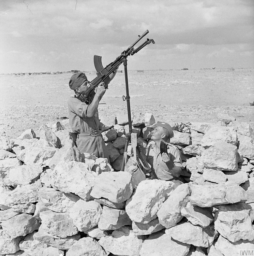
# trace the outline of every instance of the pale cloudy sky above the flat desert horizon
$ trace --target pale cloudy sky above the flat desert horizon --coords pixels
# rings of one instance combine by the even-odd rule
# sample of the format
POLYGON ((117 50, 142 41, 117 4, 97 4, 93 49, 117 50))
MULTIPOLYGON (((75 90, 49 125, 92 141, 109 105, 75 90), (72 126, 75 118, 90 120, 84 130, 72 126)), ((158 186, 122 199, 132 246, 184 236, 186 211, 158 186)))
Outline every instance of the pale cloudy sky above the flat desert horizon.
POLYGON ((0 73, 95 71, 146 30, 128 70, 254 67, 254 0, 0 0, 0 73))

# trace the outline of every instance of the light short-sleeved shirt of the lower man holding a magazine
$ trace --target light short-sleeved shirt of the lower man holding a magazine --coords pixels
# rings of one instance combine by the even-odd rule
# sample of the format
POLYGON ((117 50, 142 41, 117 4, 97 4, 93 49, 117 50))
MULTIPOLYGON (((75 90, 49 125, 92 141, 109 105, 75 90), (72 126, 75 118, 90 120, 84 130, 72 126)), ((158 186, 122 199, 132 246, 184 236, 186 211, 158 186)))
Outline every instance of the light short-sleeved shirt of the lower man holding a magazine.
MULTIPOLYGON (((178 148, 170 143, 167 143, 167 145, 167 152, 171 162, 173 162, 175 166, 182 168, 182 161, 178 148)), ((155 171, 156 175, 158 176, 158 179, 168 181, 176 178, 171 174, 166 163, 163 162, 160 151, 156 151, 154 141, 149 142, 147 146, 146 159, 147 162, 150 163, 151 168, 155 171)))

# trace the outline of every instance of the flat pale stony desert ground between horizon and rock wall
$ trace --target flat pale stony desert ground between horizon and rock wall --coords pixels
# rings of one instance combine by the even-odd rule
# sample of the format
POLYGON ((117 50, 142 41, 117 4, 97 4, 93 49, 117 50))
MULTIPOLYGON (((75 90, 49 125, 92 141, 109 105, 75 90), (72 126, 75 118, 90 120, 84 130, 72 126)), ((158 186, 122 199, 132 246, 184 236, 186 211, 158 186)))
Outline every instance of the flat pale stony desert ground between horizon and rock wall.
MULTIPOLYGON (((91 81, 95 72, 86 72, 91 81)), ((26 129, 68 117, 71 72, 0 75, 0 132, 16 138, 26 129)), ((156 121, 217 122, 218 113, 254 125, 254 69, 128 71, 131 111, 156 121)), ((124 72, 99 105, 100 117, 127 112, 124 72)))

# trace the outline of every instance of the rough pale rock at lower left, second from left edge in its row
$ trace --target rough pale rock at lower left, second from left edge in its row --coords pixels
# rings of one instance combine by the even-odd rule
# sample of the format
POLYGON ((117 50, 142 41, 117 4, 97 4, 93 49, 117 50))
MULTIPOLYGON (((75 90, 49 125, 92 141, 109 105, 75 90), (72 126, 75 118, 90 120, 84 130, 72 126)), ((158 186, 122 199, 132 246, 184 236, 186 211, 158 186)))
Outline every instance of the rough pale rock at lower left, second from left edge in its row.
POLYGON ((43 211, 40 213, 40 218, 43 229, 53 236, 65 238, 78 233, 77 227, 67 212, 43 211))

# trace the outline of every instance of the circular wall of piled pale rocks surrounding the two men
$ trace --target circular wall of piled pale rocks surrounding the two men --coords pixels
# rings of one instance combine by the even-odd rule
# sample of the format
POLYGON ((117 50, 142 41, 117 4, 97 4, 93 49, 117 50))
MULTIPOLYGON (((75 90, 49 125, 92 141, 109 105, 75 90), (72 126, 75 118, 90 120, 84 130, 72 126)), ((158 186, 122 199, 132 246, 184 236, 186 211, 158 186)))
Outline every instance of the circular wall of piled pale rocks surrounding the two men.
MULTIPOLYGON (((155 119, 132 118, 145 152, 155 119)), ((184 183, 175 188, 149 175, 135 186, 119 171, 127 123, 117 116, 100 124, 110 163, 80 154, 66 120, 0 136, 1 256, 253 255, 251 125, 220 114, 218 123, 175 131, 184 183)))

